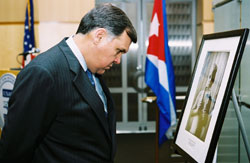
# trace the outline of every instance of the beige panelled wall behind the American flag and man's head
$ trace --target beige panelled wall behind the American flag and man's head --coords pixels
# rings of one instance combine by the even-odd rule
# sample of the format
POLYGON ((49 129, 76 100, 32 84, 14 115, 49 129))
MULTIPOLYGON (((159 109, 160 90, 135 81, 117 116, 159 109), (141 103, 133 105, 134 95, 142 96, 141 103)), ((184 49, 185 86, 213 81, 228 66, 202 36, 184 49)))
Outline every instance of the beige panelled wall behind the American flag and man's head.
MULTIPOLYGON (((0 0, 0 69, 20 67, 26 0, 0 0)), ((76 32, 95 0, 33 0, 36 46, 47 50, 76 32)))

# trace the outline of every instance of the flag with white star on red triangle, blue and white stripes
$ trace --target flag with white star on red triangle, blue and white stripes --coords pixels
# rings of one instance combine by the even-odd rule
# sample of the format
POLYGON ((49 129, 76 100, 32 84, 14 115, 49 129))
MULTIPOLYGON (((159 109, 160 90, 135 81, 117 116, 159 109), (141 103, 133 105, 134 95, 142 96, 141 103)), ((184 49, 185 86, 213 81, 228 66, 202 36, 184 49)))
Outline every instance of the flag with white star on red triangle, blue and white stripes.
POLYGON ((168 47, 165 0, 155 0, 149 31, 145 82, 157 96, 159 145, 172 137, 176 125, 175 79, 168 47))

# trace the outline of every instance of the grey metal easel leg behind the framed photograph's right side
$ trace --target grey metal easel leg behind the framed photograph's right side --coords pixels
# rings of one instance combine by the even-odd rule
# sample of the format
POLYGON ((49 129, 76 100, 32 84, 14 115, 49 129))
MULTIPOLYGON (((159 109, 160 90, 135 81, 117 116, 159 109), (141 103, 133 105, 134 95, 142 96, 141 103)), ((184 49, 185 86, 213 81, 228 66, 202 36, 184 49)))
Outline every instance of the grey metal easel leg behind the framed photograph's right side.
POLYGON ((240 125, 240 131, 241 131, 241 134, 242 134, 242 138, 243 138, 243 141, 244 141, 244 144, 245 144, 245 148, 246 148, 246 151, 247 151, 248 160, 250 162, 250 147, 249 147, 249 142, 248 142, 248 139, 247 139, 247 134, 246 134, 245 126, 244 126, 244 123, 243 123, 243 120, 242 120, 242 116, 241 116, 241 113, 240 113, 240 108, 239 108, 239 105, 238 105, 238 101, 237 101, 234 89, 232 91, 232 99, 233 99, 235 113, 236 113, 236 116, 237 116, 237 119, 238 119, 238 122, 239 122, 239 125, 240 125))

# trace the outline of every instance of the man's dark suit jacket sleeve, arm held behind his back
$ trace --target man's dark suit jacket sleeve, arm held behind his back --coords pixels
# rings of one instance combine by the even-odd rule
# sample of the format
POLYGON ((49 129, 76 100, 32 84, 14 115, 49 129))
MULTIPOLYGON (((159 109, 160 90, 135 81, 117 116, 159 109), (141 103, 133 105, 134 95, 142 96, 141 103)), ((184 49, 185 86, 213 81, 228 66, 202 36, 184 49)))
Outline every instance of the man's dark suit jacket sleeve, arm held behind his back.
POLYGON ((0 162, 31 162, 34 149, 52 120, 53 76, 40 66, 23 69, 9 100, 0 139, 0 162))

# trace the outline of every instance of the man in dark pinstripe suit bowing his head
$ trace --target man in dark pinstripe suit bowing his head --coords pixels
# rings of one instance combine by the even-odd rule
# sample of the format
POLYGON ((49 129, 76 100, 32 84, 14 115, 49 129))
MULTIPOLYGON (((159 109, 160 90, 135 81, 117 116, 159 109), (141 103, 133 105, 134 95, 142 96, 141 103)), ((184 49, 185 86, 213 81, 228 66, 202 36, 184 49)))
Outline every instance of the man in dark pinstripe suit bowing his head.
POLYGON ((0 162, 113 162, 115 109, 101 75, 136 41, 126 14, 101 5, 28 64, 9 100, 0 162))

